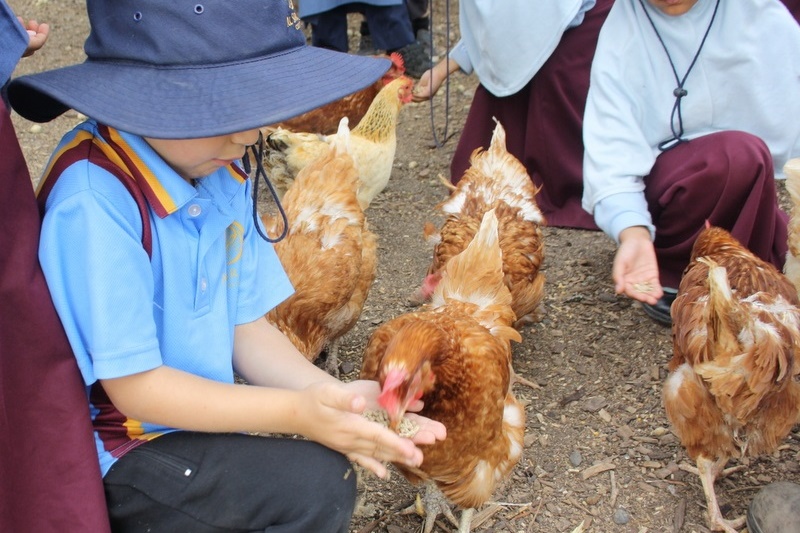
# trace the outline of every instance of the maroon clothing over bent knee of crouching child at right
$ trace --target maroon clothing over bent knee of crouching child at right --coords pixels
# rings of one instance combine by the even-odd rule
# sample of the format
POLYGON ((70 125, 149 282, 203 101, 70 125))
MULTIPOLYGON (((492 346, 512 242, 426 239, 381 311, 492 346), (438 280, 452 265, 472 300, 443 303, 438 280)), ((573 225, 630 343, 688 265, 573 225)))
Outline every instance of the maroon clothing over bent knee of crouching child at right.
POLYGON ((645 178, 661 284, 676 288, 706 220, 783 269, 788 215, 778 206, 772 156, 748 133, 726 131, 662 153, 645 178))

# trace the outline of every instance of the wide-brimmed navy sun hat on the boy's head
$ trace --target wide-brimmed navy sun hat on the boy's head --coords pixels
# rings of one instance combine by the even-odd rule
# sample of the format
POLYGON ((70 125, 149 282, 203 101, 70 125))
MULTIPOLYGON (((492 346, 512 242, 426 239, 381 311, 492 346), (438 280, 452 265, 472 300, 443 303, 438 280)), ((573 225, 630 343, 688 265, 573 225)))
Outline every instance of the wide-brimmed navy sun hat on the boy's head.
POLYGON ((11 106, 34 122, 72 108, 144 137, 213 137, 358 91, 390 61, 306 44, 292 0, 88 0, 86 61, 21 76, 11 106))

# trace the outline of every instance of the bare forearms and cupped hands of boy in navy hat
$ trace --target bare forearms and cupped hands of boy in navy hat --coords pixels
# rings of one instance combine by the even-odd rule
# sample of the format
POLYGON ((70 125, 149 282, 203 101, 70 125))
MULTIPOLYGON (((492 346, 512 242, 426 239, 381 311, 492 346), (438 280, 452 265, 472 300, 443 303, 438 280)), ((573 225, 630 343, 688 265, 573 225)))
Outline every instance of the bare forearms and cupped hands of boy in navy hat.
MULTIPOLYGON (((193 431, 299 434, 337 450, 379 477, 386 462, 418 466, 415 442, 361 416, 378 385, 345 384, 303 357, 263 317, 236 327, 234 367, 251 385, 220 383, 170 368, 102 380, 122 413, 193 431)), ((444 438, 427 421, 420 443, 444 438)))

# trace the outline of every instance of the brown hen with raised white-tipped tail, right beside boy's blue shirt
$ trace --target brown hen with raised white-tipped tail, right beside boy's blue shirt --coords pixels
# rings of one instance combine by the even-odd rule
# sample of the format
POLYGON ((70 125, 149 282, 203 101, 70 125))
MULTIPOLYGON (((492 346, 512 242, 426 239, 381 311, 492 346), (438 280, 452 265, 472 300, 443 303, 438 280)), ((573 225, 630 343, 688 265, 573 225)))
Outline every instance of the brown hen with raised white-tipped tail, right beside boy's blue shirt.
MULTIPOLYGON (((297 175, 283 198, 289 231, 275 251, 295 293, 267 314, 310 361, 327 346, 327 370, 334 375, 337 341, 358 320, 376 266, 376 237, 356 199, 348 137, 342 119, 327 153, 297 175)), ((262 220, 270 233, 280 233, 280 217, 262 220)))

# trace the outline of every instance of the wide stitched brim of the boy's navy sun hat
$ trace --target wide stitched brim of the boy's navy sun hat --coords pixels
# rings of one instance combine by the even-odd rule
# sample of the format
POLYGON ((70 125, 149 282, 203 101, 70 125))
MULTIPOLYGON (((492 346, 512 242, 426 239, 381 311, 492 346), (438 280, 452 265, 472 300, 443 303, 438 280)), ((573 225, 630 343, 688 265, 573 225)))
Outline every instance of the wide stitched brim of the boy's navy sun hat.
POLYGON ((312 46, 221 65, 154 67, 87 60, 22 76, 11 106, 34 122, 72 108, 144 137, 213 137, 260 128, 354 93, 381 77, 388 59, 312 46))

